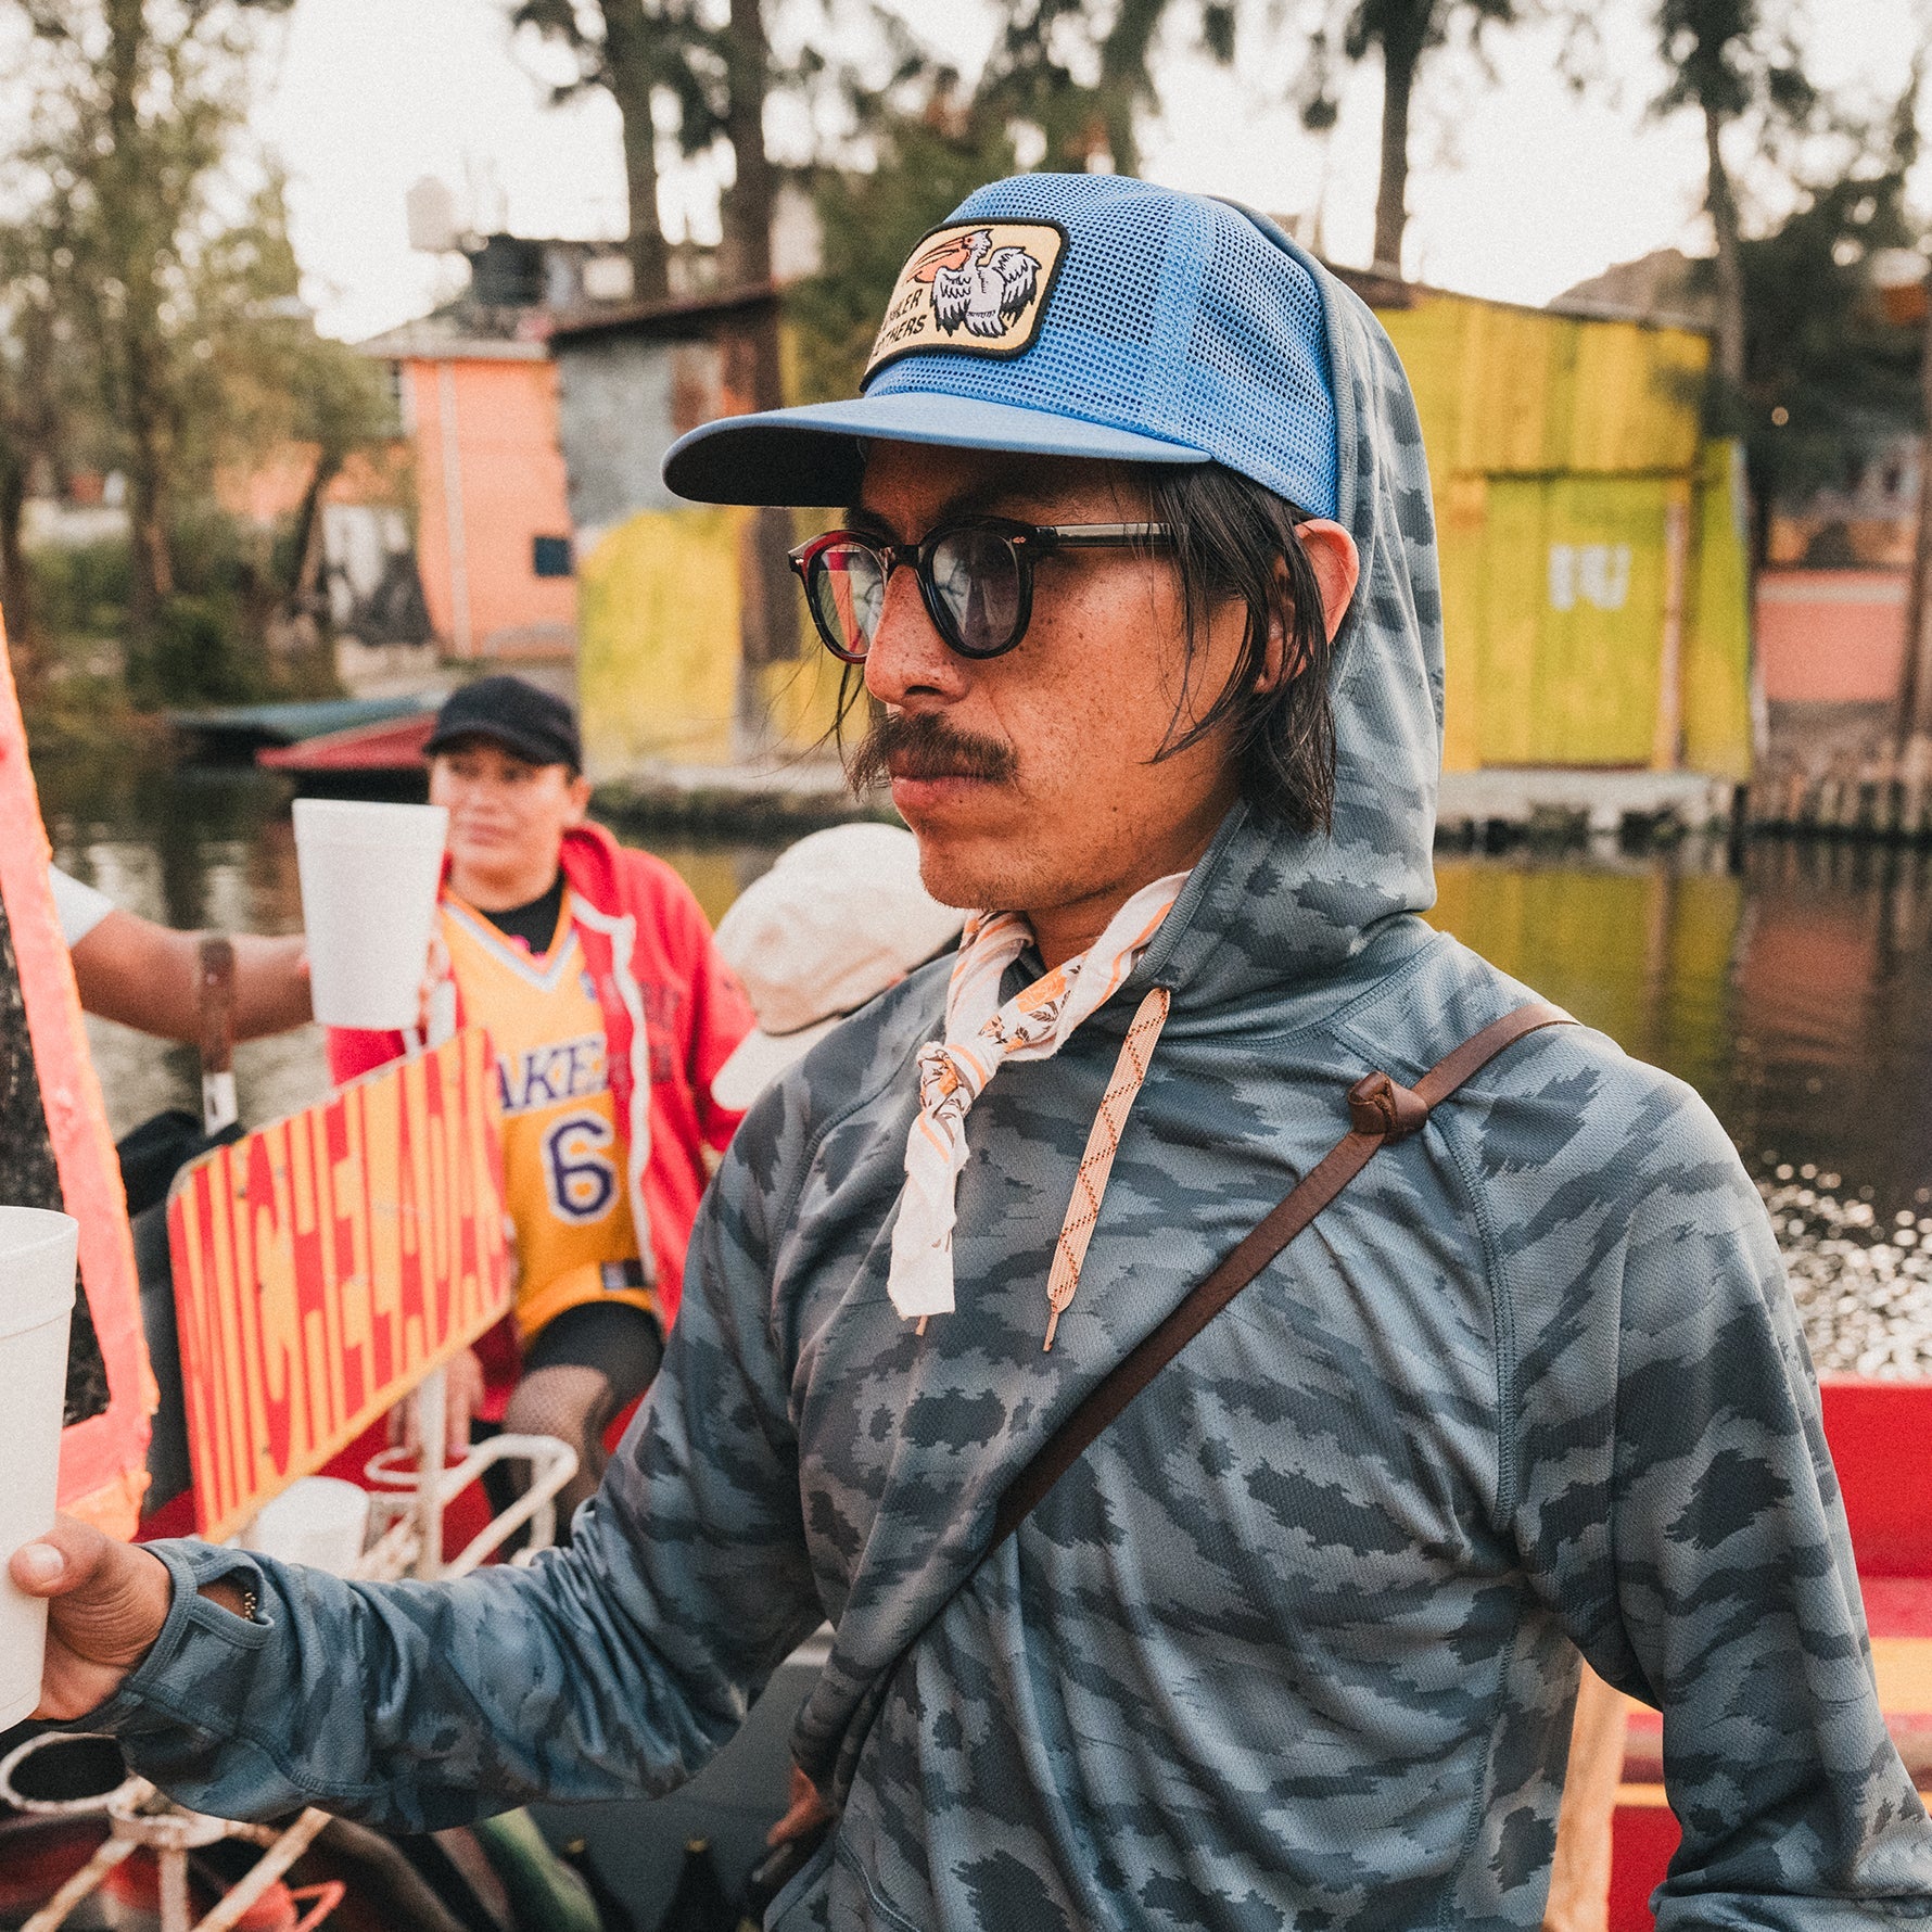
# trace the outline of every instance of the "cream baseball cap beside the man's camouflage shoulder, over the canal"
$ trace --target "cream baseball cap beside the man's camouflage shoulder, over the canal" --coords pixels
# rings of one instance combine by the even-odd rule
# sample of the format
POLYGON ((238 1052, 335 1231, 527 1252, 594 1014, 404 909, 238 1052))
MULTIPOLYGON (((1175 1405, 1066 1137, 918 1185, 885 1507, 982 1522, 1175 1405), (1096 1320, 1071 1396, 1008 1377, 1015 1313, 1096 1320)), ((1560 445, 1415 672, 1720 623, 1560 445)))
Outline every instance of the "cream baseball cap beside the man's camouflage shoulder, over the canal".
POLYGON ((835 825, 779 854, 719 920, 717 949, 744 981, 757 1028, 719 1068, 711 1097, 750 1107, 848 1012, 956 939, 966 914, 920 885, 920 844, 896 825, 835 825))

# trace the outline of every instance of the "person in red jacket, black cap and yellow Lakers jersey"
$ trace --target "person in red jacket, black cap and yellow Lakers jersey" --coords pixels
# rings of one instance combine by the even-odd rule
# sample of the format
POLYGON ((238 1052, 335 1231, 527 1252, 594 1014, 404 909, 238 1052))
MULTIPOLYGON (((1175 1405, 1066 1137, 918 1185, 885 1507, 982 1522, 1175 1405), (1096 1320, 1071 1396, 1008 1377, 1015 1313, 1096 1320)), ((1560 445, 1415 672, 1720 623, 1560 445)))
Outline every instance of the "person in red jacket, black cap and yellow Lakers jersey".
MULTIPOLYGON (((657 1374, 707 1155, 738 1124, 711 1078, 752 1009, 684 881, 587 823, 562 699, 481 678, 444 703, 425 750, 431 802, 450 811, 446 976, 458 1022, 491 1034, 502 1099, 522 1345, 502 1424, 578 1451, 568 1517, 603 1472, 605 1428, 657 1374)), ((330 1072, 408 1047, 332 1030, 330 1072)), ((452 1453, 481 1399, 481 1364, 460 1358, 452 1453)))

